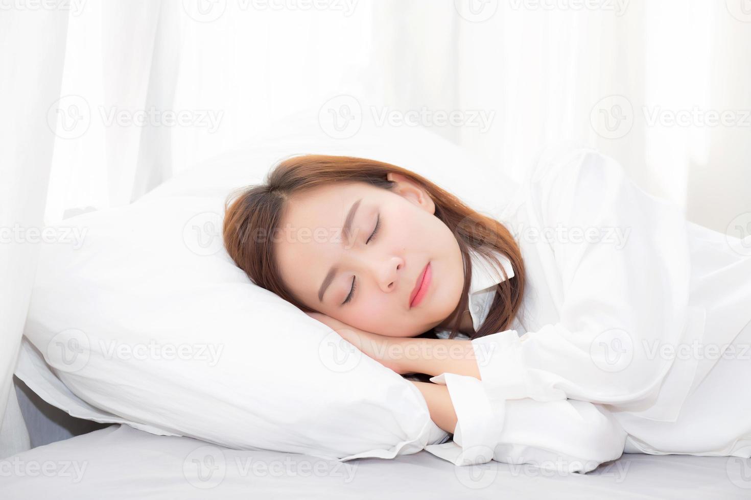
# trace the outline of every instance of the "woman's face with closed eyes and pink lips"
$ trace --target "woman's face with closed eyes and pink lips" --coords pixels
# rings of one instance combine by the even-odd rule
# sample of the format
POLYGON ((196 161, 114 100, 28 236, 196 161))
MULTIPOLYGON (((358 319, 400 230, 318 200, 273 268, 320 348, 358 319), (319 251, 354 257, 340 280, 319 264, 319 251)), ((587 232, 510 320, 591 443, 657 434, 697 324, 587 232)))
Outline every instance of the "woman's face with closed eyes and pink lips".
POLYGON ((394 190, 354 182, 290 199, 277 263, 312 310, 375 334, 414 337, 459 304, 462 256, 427 192, 403 175, 387 177, 394 190), (426 268, 429 279, 415 296, 426 268))

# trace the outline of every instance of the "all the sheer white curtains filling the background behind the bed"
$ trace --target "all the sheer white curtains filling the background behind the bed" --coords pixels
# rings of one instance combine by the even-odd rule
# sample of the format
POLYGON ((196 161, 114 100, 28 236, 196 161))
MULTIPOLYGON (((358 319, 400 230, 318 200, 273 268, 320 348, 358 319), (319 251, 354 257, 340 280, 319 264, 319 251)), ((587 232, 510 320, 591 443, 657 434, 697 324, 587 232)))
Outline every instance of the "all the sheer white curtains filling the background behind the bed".
MULTIPOLYGON (((748 1, 0 2, 0 230, 127 204, 345 95, 517 179, 544 145, 600 148, 724 232, 751 213, 748 1)), ((0 244, 0 410, 38 250, 19 238, 0 244)))

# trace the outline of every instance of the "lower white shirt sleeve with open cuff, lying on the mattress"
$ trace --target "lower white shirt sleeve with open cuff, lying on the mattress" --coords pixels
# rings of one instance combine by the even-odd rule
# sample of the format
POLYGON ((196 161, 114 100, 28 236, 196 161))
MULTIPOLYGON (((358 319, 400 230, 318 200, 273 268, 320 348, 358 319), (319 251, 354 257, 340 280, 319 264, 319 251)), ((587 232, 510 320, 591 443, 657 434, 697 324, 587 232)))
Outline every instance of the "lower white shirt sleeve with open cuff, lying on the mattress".
POLYGON ((428 445, 456 466, 496 460, 556 472, 589 472, 623 454, 626 432, 606 411, 584 401, 529 398, 494 405, 483 382, 443 373, 431 381, 448 387, 457 412, 454 441, 428 445))

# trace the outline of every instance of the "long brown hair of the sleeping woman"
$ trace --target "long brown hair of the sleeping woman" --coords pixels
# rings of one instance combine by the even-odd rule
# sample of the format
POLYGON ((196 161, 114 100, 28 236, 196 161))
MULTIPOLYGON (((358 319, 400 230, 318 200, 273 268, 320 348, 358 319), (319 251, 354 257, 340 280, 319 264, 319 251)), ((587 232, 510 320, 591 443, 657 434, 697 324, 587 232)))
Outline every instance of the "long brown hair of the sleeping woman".
MULTIPOLYGON (((493 251, 498 251, 511 261, 514 277, 508 278, 502 269, 505 280, 498 284, 490 312, 481 327, 470 338, 484 337, 498 331, 508 330, 514 315, 520 307, 524 292, 524 263, 511 232, 494 220, 472 210, 457 196, 433 184, 421 175, 382 161, 348 156, 324 154, 304 154, 290 157, 276 165, 267 174, 264 184, 243 188, 228 197, 225 209, 223 235, 225 247, 240 269, 250 280, 264 289, 306 312, 306 307, 282 283, 275 260, 272 238, 279 230, 279 224, 286 203, 292 196, 312 187, 333 182, 365 182, 383 189, 391 189, 393 182, 386 178, 388 172, 398 172, 423 187, 436 205, 435 215, 448 226, 457 238, 464 261, 464 286, 462 298, 449 320, 453 339, 458 333, 460 312, 467 310, 469 283, 472 279, 472 265, 468 248, 493 259, 499 265, 493 251), (253 237, 255 235, 255 237, 253 237)), ((435 335, 429 331, 423 336, 435 335)))

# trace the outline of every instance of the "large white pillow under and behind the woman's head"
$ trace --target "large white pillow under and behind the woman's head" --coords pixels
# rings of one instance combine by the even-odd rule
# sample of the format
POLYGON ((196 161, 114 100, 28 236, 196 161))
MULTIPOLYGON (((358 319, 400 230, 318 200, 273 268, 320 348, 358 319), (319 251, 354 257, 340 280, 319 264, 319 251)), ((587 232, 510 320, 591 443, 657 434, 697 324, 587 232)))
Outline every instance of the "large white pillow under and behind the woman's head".
POLYGON ((230 448, 348 460, 445 441, 411 382, 253 285, 225 252, 227 194, 316 152, 396 163, 491 213, 515 187, 426 130, 366 121, 342 141, 315 115, 289 118, 132 205, 57 224, 83 244, 41 249, 20 379, 79 418, 230 448))

